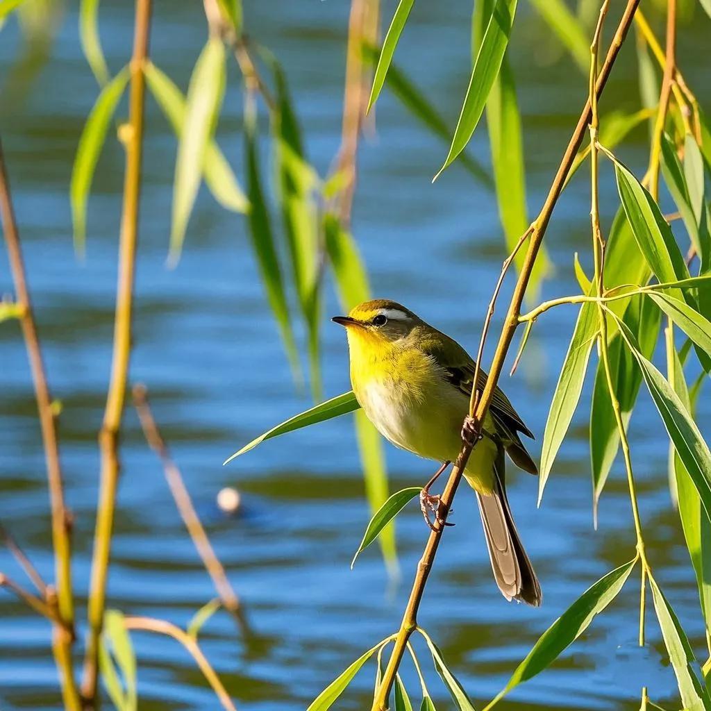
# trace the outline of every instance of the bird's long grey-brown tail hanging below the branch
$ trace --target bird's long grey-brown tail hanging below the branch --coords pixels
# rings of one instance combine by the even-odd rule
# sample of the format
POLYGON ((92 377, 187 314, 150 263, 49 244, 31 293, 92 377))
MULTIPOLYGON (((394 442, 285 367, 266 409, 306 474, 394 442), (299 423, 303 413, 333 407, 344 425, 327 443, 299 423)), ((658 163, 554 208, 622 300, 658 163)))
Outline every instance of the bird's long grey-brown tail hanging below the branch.
POLYGON ((513 523, 506 498, 504 466, 503 447, 499 447, 493 493, 476 493, 491 567, 503 597, 538 607, 542 600, 540 584, 513 523))

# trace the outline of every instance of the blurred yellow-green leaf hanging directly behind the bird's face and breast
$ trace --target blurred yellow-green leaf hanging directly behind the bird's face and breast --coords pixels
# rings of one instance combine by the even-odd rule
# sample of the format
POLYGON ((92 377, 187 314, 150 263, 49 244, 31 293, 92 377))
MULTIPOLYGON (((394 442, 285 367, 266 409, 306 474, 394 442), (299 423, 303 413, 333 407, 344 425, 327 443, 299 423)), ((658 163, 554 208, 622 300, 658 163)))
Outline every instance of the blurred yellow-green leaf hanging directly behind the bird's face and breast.
MULTIPOLYGON (((368 274, 365 272, 355 240, 350 232, 343 229, 335 215, 324 216, 324 233, 326 253, 336 279, 338 298, 343 310, 350 311, 356 304, 370 299, 368 274)), ((365 493, 368 495, 370 510, 375 512, 387 498, 383 440, 364 415, 355 417, 355 434, 358 438, 360 462, 363 465, 365 493)), ((385 563, 391 574, 394 574, 397 570, 397 556, 395 555, 395 528, 392 523, 383 530, 379 542, 385 563)))

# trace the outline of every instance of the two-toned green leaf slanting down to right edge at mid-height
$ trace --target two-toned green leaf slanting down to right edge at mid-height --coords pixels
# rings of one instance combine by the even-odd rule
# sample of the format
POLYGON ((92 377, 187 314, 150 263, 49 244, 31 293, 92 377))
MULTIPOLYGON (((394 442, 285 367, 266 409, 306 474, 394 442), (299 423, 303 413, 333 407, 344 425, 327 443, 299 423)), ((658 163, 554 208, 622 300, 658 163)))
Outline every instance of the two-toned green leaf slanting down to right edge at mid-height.
POLYGON ((711 515, 711 452, 699 428, 664 376, 639 350, 634 335, 618 320, 620 333, 642 370, 642 376, 701 502, 711 515))

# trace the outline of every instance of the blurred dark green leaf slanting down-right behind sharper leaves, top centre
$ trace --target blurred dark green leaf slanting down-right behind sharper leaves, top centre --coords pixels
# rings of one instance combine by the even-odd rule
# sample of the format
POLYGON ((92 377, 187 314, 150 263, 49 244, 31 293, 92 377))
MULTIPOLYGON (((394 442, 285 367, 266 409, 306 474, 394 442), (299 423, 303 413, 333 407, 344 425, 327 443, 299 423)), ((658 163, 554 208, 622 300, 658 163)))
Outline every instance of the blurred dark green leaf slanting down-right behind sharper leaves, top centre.
MULTIPOLYGON (((371 65, 375 65, 380 56, 377 48, 367 45, 363 48, 363 54, 371 65)), ((439 112, 437 112, 437 109, 427 100, 427 97, 422 94, 412 81, 407 78, 407 75, 397 68, 395 64, 390 65, 385 79, 385 85, 424 127, 449 145, 450 134, 449 128, 447 128, 447 122, 444 121, 439 112)), ((459 162, 469 171, 476 181, 490 190, 493 189, 491 176, 479 161, 476 161, 476 159, 467 153, 462 153, 461 156, 459 156, 459 162)))

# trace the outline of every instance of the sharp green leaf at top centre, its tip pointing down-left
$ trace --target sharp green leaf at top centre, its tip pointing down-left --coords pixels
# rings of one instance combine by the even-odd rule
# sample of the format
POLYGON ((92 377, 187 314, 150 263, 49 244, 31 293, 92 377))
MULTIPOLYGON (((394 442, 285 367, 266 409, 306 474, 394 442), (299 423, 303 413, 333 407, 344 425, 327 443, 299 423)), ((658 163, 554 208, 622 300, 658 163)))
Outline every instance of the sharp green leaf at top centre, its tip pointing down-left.
POLYGON ((459 121, 454 130, 454 138, 449 147, 449 154, 447 154, 442 168, 434 176, 434 180, 437 180, 442 171, 451 165, 456 156, 459 156, 474 134, 476 124, 479 123, 484 105, 486 105, 489 91, 501 67, 515 12, 516 0, 496 0, 491 18, 489 18, 486 31, 481 39, 479 53, 476 55, 469 87, 464 97, 464 105, 461 107, 459 121))

